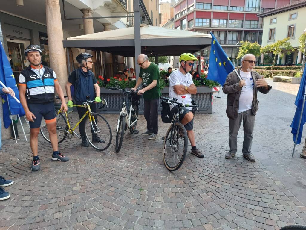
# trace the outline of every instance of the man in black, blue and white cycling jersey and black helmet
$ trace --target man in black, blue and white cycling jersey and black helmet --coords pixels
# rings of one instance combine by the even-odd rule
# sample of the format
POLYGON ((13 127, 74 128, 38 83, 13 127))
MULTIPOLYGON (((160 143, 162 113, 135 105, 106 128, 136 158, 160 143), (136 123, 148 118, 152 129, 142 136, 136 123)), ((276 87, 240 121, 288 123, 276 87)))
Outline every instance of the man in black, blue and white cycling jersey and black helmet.
POLYGON ((54 89, 61 98, 61 109, 63 111, 67 111, 67 105, 55 72, 51 68, 41 64, 42 52, 39 45, 28 45, 24 51, 24 55, 31 64, 28 68, 21 71, 19 75, 19 94, 25 116, 30 121, 30 146, 33 152, 31 170, 38 171, 40 169, 38 134, 42 118, 45 119, 53 148, 52 160, 69 160, 68 157, 65 157, 58 151, 54 89))

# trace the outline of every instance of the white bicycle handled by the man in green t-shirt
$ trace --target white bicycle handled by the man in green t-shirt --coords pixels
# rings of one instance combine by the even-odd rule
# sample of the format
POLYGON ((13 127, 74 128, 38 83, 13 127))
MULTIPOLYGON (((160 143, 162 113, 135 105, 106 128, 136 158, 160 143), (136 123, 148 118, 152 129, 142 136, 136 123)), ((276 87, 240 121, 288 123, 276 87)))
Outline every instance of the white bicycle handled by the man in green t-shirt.
POLYGON ((137 90, 136 91, 125 90, 125 89, 120 89, 118 87, 108 87, 108 89, 121 90, 124 94, 122 100, 122 108, 119 114, 118 124, 116 129, 115 150, 118 153, 122 146, 124 131, 129 129, 131 134, 138 133, 138 130, 136 130, 136 126, 138 120, 138 111, 139 111, 141 95, 137 94, 138 92, 137 90), (126 96, 129 97, 129 100, 131 102, 129 113, 126 108, 126 102, 125 102, 126 96))

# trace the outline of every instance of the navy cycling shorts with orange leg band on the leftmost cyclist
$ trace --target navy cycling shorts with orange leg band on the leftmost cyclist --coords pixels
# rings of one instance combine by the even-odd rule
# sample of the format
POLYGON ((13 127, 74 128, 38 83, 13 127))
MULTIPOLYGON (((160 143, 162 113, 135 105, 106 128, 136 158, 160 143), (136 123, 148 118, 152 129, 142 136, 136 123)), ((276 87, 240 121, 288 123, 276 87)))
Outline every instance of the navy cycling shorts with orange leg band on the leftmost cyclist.
POLYGON ((29 121, 30 128, 40 128, 42 118, 45 119, 46 124, 56 121, 54 102, 47 104, 28 104, 28 108, 31 113, 36 117, 34 122, 29 121))

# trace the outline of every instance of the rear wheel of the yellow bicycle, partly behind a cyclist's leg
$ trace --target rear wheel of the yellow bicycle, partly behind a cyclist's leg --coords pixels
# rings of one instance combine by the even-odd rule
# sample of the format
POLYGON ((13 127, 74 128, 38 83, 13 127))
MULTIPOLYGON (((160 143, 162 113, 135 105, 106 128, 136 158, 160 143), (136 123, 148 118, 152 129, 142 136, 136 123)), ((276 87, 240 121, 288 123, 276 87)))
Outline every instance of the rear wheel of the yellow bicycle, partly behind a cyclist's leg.
MULTIPOLYGON (((68 125, 65 117, 62 113, 56 114, 56 133, 58 135, 58 144, 62 143, 63 140, 65 140, 67 135, 67 133, 65 132, 66 130, 68 130, 68 125)), ((42 121, 40 125, 40 133, 46 141, 51 143, 47 125, 44 121, 42 121)))

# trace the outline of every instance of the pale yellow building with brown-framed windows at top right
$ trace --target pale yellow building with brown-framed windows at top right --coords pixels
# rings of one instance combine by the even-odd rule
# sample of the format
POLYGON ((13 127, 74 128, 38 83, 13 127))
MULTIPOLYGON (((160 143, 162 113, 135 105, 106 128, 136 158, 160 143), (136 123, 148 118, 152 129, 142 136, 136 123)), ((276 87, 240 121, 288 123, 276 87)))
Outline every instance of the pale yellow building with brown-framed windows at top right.
POLYGON ((285 54, 283 58, 278 58, 277 64, 301 63, 303 54, 297 48, 300 46, 299 37, 306 28, 305 15, 306 1, 294 2, 258 15, 263 18, 262 46, 289 37, 289 41, 295 49, 290 54, 285 54))

